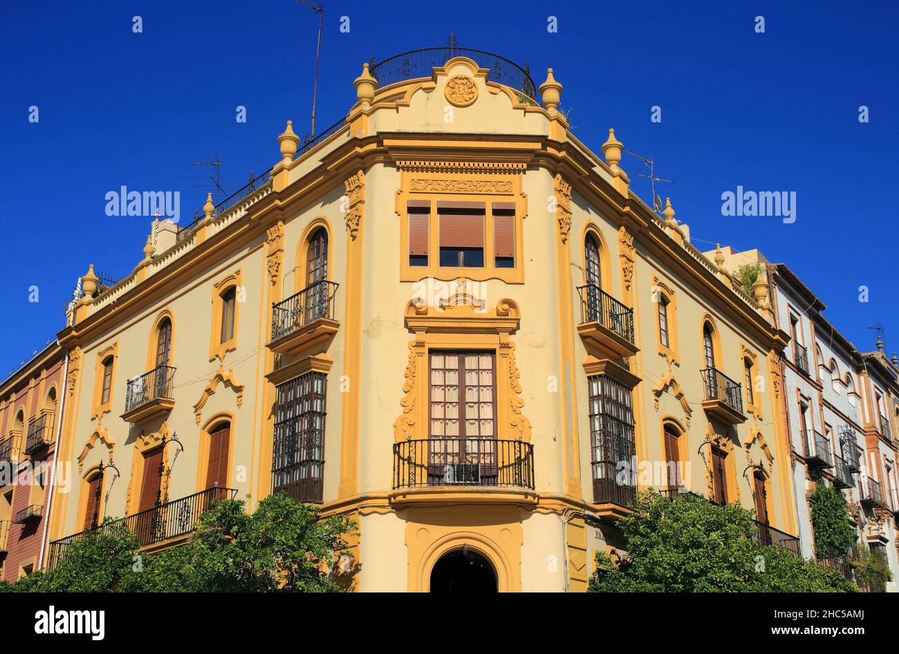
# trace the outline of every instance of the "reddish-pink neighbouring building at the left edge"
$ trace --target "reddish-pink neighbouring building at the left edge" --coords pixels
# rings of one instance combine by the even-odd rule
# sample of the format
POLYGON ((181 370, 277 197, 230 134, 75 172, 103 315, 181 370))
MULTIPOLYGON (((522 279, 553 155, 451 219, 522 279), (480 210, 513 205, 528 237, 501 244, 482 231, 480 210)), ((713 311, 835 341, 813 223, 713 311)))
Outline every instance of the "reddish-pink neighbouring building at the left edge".
MULTIPOLYGON (((65 401, 65 356, 52 343, 0 384, 0 579, 41 566, 51 480, 65 401)), ((65 484, 65 471, 62 479, 65 484)))

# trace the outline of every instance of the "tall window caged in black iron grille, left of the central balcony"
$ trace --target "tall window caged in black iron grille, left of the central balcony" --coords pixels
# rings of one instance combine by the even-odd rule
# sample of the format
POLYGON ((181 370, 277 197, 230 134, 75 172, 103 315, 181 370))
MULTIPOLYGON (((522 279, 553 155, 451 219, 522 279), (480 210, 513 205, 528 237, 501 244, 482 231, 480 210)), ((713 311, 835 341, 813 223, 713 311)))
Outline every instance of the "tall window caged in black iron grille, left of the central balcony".
POLYGON ((277 388, 271 492, 320 503, 325 469, 327 376, 307 373, 277 388))

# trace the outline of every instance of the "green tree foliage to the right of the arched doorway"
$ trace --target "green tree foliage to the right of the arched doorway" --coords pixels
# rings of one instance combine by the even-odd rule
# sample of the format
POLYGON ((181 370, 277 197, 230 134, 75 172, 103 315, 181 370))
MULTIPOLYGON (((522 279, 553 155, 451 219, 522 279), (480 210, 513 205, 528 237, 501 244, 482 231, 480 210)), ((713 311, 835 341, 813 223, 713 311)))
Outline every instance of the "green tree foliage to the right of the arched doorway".
POLYGON ((619 521, 628 558, 597 556, 593 592, 829 592, 856 588, 778 545, 761 545, 752 512, 697 495, 640 493, 619 521))

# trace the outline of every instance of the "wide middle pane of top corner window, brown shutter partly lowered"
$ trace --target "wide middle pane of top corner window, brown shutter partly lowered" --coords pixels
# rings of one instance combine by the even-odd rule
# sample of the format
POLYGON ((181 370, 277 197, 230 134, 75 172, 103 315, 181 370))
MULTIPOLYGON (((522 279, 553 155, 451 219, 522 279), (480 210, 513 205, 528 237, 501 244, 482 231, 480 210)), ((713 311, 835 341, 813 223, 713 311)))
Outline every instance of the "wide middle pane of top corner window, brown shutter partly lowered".
POLYGON ((437 202, 441 267, 484 268, 484 202, 437 202))

